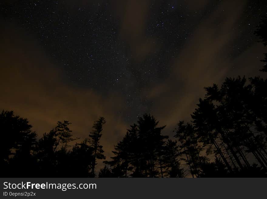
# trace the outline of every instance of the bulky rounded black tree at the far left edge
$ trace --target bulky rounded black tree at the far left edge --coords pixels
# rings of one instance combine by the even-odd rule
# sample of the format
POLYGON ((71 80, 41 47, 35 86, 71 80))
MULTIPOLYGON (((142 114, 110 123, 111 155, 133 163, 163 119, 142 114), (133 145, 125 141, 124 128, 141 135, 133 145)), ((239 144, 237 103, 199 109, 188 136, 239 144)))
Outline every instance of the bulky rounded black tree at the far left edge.
POLYGON ((36 144, 36 133, 31 130, 29 120, 15 116, 13 111, 2 111, 0 114, 1 139, 1 176, 12 177, 20 172, 24 176, 34 174, 32 150, 36 144), (16 168, 15 164, 20 167, 16 168))

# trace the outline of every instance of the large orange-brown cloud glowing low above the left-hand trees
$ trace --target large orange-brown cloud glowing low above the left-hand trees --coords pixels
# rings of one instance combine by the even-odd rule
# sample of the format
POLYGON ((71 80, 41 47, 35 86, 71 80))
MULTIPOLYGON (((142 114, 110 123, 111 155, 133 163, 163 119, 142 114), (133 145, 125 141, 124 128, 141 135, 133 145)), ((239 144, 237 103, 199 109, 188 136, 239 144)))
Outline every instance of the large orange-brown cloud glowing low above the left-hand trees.
POLYGON ((117 114, 122 108, 120 94, 102 96, 90 88, 68 85, 64 71, 22 30, 5 25, 0 42, 0 109, 28 118, 39 136, 55 127, 57 121, 68 120, 73 136, 81 139, 88 137, 93 121, 101 115, 107 121, 101 144, 109 159, 114 144, 128 128, 117 114))

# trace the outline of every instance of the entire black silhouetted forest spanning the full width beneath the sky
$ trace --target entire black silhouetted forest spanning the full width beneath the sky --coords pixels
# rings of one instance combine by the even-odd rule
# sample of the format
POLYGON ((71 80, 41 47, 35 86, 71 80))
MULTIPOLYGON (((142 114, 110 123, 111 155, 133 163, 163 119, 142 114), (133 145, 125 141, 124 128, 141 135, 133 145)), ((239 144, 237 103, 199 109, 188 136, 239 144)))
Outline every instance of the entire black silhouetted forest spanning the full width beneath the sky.
MULTIPOLYGON (((267 45, 267 20, 255 34, 267 45)), ((262 60, 267 72, 267 53, 262 60)), ((73 138, 69 121, 37 139, 27 118, 0 114, 1 177, 267 177, 267 79, 227 77, 205 87, 191 121, 174 137, 150 114, 138 117, 106 161, 100 116, 88 138, 73 138), (76 141, 76 144, 70 143, 76 141), (105 166, 96 171, 98 160, 105 166)))

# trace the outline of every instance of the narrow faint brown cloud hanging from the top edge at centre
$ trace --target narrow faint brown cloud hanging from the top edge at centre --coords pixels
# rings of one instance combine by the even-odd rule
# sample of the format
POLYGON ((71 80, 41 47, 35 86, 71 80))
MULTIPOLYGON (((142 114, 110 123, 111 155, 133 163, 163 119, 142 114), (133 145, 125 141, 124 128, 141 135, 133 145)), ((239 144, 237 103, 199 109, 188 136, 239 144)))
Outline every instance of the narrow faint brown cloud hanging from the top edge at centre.
POLYGON ((150 1, 113 1, 112 11, 119 21, 119 36, 130 47, 135 61, 142 61, 159 49, 156 39, 146 35, 150 1))

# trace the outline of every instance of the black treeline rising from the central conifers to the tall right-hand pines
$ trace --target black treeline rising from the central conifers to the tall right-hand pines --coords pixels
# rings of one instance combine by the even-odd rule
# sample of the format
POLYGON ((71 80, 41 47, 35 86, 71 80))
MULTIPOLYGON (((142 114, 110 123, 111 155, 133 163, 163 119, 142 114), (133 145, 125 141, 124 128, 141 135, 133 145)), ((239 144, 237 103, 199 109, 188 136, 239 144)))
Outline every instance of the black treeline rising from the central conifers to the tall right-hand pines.
POLYGON ((205 88, 191 114, 179 121, 176 140, 161 134, 153 116, 144 114, 115 146, 113 177, 263 177, 267 176, 267 80, 226 78, 205 88), (181 167, 186 164, 188 167, 181 167), (188 172, 189 171, 189 172, 188 172))

